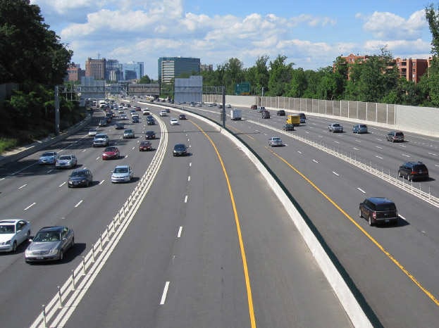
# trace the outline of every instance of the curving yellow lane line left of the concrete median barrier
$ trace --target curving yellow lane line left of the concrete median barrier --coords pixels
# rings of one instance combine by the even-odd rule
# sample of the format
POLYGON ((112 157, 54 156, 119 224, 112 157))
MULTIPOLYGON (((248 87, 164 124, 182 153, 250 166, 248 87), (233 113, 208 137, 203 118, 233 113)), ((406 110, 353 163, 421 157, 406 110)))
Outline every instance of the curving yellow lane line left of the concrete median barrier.
POLYGON ((232 207, 233 207, 233 213, 235 214, 235 222, 236 222, 236 229, 237 229, 237 236, 240 241, 240 248, 241 248, 241 257, 242 257, 242 266, 244 267, 244 276, 245 276, 245 286, 247 287, 247 301, 249 303, 249 315, 250 315, 250 323, 252 325, 252 328, 256 328, 256 322, 254 320, 254 309, 253 309, 253 298, 252 298, 252 288, 250 287, 250 278, 249 278, 249 270, 247 268, 247 258, 245 256, 245 250, 244 250, 244 243, 242 242, 242 234, 241 234, 241 227, 240 227, 240 220, 237 216, 237 210, 235 206, 235 198, 233 198, 233 191, 232 187, 230 186, 230 181, 228 179, 227 171, 225 170, 223 159, 221 158, 221 155, 218 152, 218 149, 216 149, 216 146, 214 144, 214 141, 204 132, 204 130, 197 125, 197 123, 193 122, 192 120, 189 120, 192 122, 193 125, 199 128, 201 132, 204 133, 204 135, 211 141, 212 146, 214 146, 214 149, 216 151, 216 155, 218 156, 221 166, 223 167, 223 172, 225 176, 225 180, 227 181, 228 185, 228 191, 230 194, 230 200, 232 201, 232 207))

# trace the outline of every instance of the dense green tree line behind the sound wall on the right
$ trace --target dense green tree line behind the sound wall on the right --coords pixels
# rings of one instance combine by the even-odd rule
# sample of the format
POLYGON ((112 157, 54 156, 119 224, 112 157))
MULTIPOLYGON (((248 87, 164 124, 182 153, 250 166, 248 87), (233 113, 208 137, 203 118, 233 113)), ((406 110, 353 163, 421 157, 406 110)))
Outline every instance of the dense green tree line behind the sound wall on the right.
POLYGON ((287 63, 287 57, 280 54, 273 61, 261 56, 250 68, 230 58, 214 71, 201 72, 203 85, 225 86, 226 94, 235 94, 235 84, 250 82, 252 94, 261 95, 264 89, 265 96, 439 107, 439 14, 433 4, 425 13, 433 36, 433 61, 418 84, 399 76, 392 53, 384 47, 361 63, 346 63, 338 57, 334 67, 319 70, 294 68, 295 64, 287 63))

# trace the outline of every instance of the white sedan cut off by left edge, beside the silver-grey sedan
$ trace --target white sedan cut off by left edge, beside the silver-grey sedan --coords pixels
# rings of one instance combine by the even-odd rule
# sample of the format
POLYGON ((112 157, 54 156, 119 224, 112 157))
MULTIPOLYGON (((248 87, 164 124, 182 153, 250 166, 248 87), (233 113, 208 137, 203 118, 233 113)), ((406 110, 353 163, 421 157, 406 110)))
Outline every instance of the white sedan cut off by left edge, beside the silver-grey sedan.
POLYGON ((29 239, 30 222, 25 220, 0 221, 0 252, 14 252, 18 245, 29 239))

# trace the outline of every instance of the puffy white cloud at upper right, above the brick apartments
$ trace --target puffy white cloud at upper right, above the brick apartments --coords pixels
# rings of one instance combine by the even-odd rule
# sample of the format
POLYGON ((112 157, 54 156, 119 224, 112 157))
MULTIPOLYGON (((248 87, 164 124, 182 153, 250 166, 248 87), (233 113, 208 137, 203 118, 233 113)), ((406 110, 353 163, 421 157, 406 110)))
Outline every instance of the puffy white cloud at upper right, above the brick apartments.
POLYGON ((422 30, 428 26, 423 10, 414 12, 407 20, 393 13, 378 11, 366 17, 365 20, 363 30, 371 32, 378 39, 418 39, 421 37, 422 30))

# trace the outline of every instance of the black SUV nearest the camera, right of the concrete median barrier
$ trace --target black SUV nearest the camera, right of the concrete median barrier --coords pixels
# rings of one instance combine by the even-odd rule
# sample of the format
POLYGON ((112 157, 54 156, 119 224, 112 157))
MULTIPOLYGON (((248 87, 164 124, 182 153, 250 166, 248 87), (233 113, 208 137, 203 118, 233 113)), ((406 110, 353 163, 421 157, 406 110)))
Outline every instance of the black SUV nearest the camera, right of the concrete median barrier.
POLYGON ((398 211, 395 203, 388 198, 371 197, 364 199, 359 206, 359 216, 366 217, 369 225, 380 225, 382 223, 398 223, 398 211))

